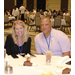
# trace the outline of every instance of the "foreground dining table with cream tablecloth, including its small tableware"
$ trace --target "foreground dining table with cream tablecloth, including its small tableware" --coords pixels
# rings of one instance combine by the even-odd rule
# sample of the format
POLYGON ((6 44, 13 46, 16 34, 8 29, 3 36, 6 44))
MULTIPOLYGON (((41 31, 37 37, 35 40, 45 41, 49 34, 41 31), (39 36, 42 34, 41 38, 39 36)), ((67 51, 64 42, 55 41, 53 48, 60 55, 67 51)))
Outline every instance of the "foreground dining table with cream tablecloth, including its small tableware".
POLYGON ((4 57, 4 75, 71 75, 62 74, 65 68, 71 69, 71 58, 69 56, 51 56, 50 64, 46 63, 46 55, 32 54, 30 62, 32 66, 25 66, 27 55, 5 55, 4 57), (68 62, 70 62, 68 64, 68 62))

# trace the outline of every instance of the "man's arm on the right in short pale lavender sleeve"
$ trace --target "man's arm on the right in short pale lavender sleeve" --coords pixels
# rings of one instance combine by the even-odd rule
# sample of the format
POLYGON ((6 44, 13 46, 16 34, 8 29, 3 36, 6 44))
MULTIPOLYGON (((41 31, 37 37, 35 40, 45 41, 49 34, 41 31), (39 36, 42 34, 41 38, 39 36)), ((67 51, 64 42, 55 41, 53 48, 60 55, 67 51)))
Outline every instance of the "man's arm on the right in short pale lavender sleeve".
POLYGON ((61 51, 63 53, 62 56, 69 56, 70 57, 70 51, 71 51, 71 43, 69 38, 67 37, 66 34, 62 33, 61 35, 59 35, 59 39, 58 39, 61 51))

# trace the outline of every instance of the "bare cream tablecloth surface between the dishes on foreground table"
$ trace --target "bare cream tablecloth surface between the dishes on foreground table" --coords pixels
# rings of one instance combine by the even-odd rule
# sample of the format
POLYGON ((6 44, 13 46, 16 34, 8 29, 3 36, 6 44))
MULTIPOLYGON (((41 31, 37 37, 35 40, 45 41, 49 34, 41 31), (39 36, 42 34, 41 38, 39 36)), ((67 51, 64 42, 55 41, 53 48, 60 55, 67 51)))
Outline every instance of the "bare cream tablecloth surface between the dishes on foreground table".
MULTIPOLYGON (((59 69, 64 69, 66 67, 71 68, 71 65, 66 65, 65 62, 71 60, 69 58, 69 60, 65 61, 64 63, 60 64, 62 66, 62 68, 58 68, 57 66, 59 66, 58 64, 58 60, 60 60, 63 57, 59 57, 59 56, 52 56, 52 60, 51 60, 51 65, 46 65, 46 56, 45 55, 36 55, 36 57, 32 57, 31 58, 31 62, 32 63, 37 63, 38 66, 37 67, 20 67, 19 63, 23 63, 25 61, 25 58, 18 55, 19 58, 17 59, 13 59, 10 55, 7 56, 9 58, 9 64, 10 66, 13 67, 13 73, 10 75, 41 75, 42 73, 45 72, 52 72, 54 75, 57 75, 57 73, 55 72, 56 70, 59 69)), ((4 75, 7 75, 4 73, 4 75)))

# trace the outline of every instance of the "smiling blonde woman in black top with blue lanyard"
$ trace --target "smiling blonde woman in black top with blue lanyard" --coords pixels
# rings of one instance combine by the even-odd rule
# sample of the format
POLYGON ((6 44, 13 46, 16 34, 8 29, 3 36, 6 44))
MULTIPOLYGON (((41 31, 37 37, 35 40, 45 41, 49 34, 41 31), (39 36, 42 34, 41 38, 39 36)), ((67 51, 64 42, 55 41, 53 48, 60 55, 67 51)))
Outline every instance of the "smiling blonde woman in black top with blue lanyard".
POLYGON ((31 38, 28 37, 25 23, 21 20, 14 21, 12 35, 8 35, 5 43, 8 55, 30 53, 31 38))

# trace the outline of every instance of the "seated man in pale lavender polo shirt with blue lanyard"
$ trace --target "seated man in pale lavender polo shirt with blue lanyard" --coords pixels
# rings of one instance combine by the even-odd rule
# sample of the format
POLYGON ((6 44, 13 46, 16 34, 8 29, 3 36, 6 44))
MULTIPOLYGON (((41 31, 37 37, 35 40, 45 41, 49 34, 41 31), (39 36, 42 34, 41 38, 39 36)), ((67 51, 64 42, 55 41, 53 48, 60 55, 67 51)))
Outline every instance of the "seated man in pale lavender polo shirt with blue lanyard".
POLYGON ((41 18, 41 30, 34 39, 37 54, 45 55, 50 50, 53 56, 70 55, 71 45, 67 35, 53 29, 49 18, 41 18))

